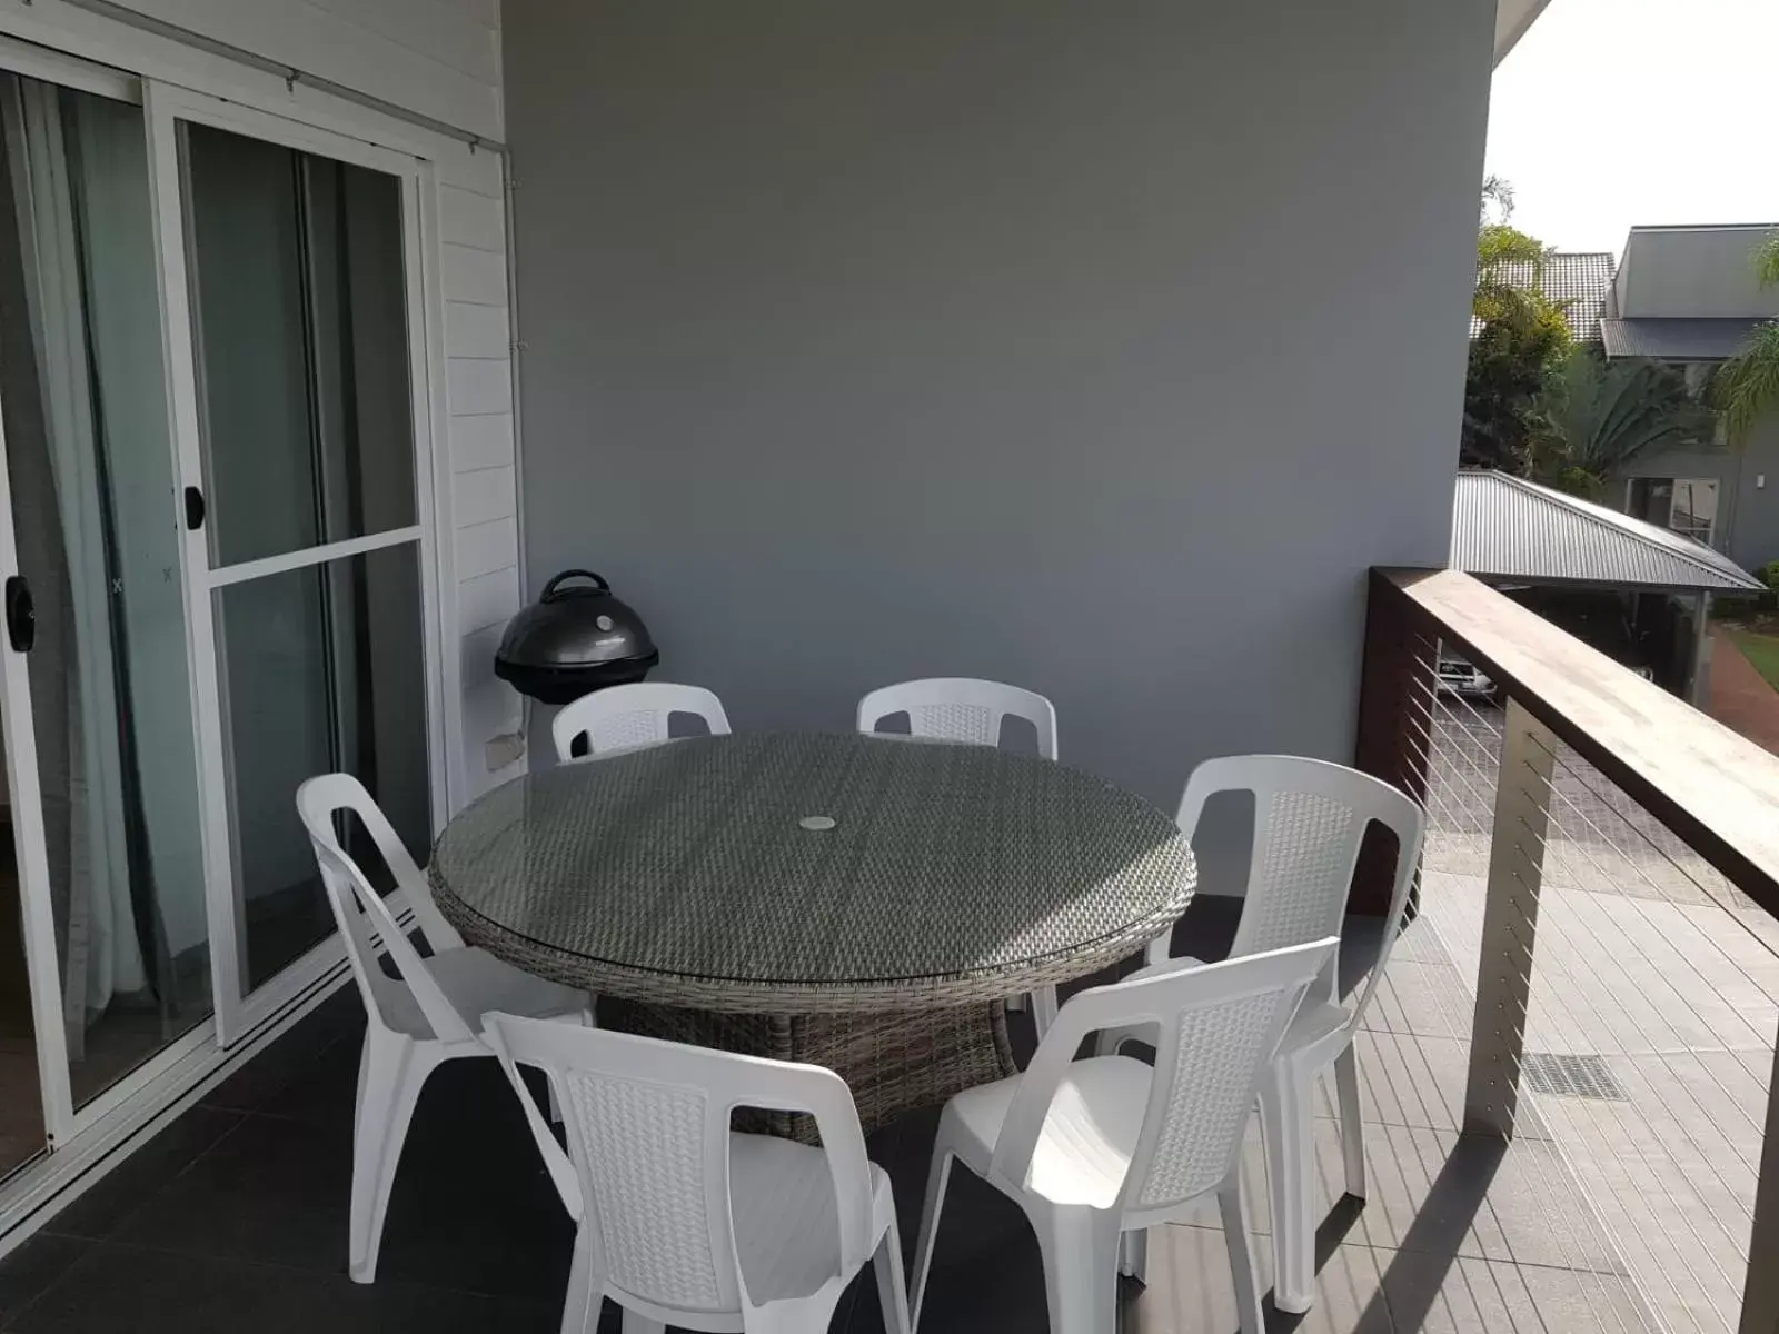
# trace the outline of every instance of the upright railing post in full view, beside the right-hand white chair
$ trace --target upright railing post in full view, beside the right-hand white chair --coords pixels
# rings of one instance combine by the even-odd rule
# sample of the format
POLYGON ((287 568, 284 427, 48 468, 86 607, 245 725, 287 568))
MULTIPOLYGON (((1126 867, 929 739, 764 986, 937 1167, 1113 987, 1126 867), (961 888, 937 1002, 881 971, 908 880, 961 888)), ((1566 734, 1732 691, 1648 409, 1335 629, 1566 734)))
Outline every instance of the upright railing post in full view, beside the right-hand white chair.
POLYGON ((1509 699, 1464 1089, 1464 1129, 1503 1140, 1514 1137, 1519 1112, 1555 751, 1557 738, 1544 724, 1509 699))

